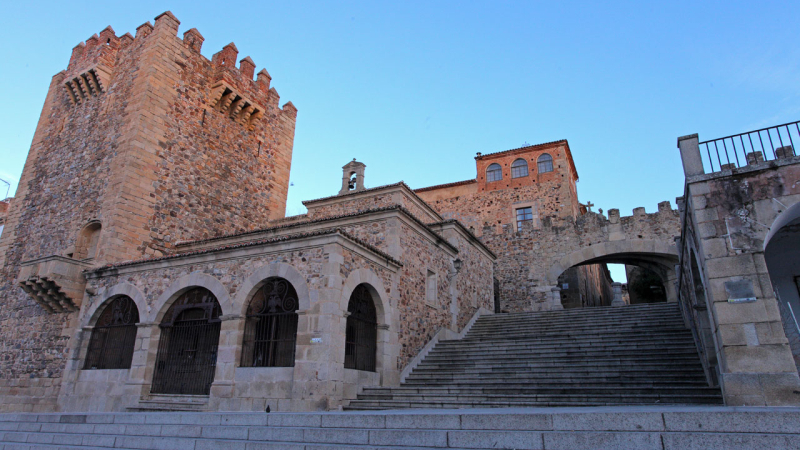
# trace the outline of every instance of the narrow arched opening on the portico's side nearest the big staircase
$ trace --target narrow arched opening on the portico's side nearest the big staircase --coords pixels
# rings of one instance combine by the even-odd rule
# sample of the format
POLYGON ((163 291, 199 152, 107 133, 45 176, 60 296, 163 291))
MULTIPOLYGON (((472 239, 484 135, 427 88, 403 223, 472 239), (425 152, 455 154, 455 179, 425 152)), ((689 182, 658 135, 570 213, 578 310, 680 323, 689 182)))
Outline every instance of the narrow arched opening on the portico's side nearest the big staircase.
POLYGON ((344 368, 375 371, 378 347, 378 315, 367 285, 359 284, 347 303, 347 331, 344 344, 344 368))

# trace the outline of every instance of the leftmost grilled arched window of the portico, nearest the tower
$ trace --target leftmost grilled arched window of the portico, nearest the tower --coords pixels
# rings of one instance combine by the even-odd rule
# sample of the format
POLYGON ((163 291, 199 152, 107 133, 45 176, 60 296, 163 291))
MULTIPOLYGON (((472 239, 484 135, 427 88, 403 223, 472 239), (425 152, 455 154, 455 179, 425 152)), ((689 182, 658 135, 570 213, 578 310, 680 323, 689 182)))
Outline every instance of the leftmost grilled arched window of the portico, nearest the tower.
POLYGON ((83 369, 130 369, 139 309, 128 296, 108 302, 89 339, 83 369))

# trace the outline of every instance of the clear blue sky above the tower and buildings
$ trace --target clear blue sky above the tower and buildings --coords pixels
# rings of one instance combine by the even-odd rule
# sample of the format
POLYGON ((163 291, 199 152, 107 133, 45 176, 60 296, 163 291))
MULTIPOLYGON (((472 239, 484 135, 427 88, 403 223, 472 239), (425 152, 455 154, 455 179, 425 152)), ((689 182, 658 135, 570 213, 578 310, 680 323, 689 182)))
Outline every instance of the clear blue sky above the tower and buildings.
MULTIPOLYGON (((298 118, 287 214, 366 184, 475 177, 476 152, 567 139, 578 194, 630 215, 682 195, 676 138, 800 119, 796 2, 7 2, 0 178, 22 172, 72 47, 169 9, 207 57, 233 41, 298 118)), ((0 189, 0 196, 5 189, 0 189)))

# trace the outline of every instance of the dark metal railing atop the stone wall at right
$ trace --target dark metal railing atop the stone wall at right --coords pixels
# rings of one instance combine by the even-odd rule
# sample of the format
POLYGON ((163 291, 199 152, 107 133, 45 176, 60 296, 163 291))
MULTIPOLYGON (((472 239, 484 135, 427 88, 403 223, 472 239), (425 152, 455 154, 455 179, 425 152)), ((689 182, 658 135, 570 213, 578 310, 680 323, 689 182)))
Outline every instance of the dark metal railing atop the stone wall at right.
POLYGON ((797 155, 794 141, 800 142, 798 124, 800 121, 700 142, 703 165, 711 169, 706 173, 797 155))

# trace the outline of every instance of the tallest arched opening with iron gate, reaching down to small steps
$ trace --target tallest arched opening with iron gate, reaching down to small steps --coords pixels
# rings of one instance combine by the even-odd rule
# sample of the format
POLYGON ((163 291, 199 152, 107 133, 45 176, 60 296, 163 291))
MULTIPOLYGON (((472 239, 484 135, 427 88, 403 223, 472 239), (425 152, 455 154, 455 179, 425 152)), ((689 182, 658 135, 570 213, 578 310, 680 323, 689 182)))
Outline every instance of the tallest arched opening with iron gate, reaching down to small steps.
POLYGON ((205 288, 183 293, 161 322, 154 394, 208 395, 214 382, 221 308, 205 288))

